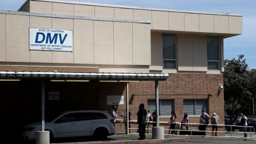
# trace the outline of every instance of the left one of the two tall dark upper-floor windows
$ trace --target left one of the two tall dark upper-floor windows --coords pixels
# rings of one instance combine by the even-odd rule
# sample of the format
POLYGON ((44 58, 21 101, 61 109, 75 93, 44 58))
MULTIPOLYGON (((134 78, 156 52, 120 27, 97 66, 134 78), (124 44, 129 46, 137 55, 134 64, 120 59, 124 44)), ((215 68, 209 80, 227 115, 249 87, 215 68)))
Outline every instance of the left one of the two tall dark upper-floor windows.
POLYGON ((176 68, 176 36, 163 34, 163 68, 176 68))

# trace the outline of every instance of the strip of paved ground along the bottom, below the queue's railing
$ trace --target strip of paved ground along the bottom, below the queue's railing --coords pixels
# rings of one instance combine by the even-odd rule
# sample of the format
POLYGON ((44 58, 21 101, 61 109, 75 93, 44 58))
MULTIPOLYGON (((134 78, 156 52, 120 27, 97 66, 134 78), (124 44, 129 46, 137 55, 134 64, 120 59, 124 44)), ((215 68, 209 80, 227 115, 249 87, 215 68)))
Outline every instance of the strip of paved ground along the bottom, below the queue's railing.
POLYGON ((164 140, 156 140, 152 139, 151 134, 146 134, 146 139, 145 140, 137 140, 139 138, 138 134, 115 134, 111 135, 108 137, 108 140, 106 141, 86 141, 86 142, 67 142, 67 143, 62 143, 62 144, 103 144, 103 143, 115 143, 115 144, 123 144, 123 143, 156 143, 156 142, 186 142, 189 141, 189 138, 182 138, 182 137, 172 137, 172 136, 167 136, 165 137, 164 140))

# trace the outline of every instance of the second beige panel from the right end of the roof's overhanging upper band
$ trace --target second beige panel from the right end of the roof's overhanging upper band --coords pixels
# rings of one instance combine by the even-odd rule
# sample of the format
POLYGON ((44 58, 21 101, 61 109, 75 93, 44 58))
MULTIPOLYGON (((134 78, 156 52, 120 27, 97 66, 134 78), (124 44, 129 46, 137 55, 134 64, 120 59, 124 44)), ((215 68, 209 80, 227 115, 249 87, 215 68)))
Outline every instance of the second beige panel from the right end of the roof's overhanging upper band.
POLYGON ((214 33, 228 33, 228 16, 214 15, 214 33))

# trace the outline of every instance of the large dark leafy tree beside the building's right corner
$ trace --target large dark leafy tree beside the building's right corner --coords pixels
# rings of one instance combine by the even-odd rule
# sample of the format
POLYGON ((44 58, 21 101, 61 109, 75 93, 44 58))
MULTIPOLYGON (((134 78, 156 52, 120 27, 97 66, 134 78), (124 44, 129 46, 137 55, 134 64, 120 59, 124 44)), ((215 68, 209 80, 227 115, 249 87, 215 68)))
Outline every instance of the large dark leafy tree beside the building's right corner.
POLYGON ((224 72, 224 99, 225 107, 231 111, 230 124, 235 121, 236 117, 243 111, 252 96, 251 77, 248 65, 245 62, 244 55, 238 55, 238 59, 225 60, 224 72))

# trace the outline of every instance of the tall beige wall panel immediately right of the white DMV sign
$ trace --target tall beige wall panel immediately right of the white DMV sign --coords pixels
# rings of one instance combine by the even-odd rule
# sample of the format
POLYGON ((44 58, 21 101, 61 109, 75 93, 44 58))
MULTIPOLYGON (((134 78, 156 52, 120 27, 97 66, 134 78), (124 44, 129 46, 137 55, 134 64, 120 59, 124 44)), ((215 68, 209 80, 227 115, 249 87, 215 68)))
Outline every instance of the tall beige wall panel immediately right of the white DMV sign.
POLYGON ((93 64, 93 21, 74 20, 74 63, 93 64))

